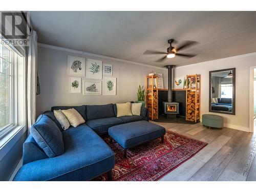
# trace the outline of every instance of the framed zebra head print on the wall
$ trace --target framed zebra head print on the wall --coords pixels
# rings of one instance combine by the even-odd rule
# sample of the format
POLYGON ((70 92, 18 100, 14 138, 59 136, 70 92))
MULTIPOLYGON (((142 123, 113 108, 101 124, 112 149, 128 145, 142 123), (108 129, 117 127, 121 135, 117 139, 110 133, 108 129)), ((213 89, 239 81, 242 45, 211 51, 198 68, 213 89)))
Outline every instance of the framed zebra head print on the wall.
POLYGON ((69 55, 68 75, 86 76, 86 58, 69 55))

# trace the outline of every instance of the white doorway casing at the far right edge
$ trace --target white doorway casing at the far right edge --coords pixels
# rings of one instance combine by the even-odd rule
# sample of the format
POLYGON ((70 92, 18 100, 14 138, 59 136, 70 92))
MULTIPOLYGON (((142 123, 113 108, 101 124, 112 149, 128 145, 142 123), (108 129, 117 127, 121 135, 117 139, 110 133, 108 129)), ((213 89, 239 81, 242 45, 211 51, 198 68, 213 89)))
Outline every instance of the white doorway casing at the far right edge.
POLYGON ((249 86, 249 132, 253 133, 253 126, 254 126, 254 119, 253 119, 253 97, 254 97, 254 90, 253 90, 253 83, 254 83, 254 68, 256 66, 250 67, 250 86, 249 86))

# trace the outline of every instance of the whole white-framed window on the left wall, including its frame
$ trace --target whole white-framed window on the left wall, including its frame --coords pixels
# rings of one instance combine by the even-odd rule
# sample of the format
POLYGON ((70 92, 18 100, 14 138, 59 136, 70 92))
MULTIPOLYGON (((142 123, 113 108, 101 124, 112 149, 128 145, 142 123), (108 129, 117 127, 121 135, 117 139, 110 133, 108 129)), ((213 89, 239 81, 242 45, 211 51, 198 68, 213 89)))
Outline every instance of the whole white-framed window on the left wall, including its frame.
POLYGON ((26 122, 25 57, 2 42, 0 38, 0 141, 26 122))

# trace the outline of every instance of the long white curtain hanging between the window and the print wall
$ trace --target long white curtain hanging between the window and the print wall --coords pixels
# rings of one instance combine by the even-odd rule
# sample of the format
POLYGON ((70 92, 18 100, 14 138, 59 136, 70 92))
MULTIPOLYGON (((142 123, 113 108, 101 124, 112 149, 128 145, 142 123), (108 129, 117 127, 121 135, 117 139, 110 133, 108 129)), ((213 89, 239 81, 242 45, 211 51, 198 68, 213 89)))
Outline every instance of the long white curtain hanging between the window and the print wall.
POLYGON ((28 128, 36 118, 36 89, 37 89, 37 34, 31 31, 28 51, 27 73, 27 105, 28 105, 28 128))

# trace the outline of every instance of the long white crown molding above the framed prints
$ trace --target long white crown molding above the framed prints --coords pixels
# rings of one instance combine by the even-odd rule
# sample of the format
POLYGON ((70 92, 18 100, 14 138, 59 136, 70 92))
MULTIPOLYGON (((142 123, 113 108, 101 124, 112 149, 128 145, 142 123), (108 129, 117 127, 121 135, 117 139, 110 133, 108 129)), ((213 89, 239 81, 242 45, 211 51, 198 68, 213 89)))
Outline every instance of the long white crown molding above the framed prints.
POLYGON ((43 48, 54 49, 54 50, 59 50, 59 51, 65 51, 65 52, 81 54, 81 55, 87 55, 89 57, 97 57, 97 58, 102 58, 102 59, 111 59, 111 60, 115 60, 115 61, 131 63, 133 65, 150 67, 150 68, 156 68, 156 69, 161 69, 161 70, 166 70, 167 71, 167 69, 165 69, 164 67, 160 68, 160 67, 156 67, 156 66, 151 66, 151 65, 144 64, 144 63, 140 63, 140 62, 134 62, 134 61, 124 60, 124 59, 118 59, 118 58, 115 58, 115 57, 98 55, 98 54, 94 54, 94 53, 89 53, 89 52, 84 52, 84 51, 77 51, 77 50, 74 50, 74 49, 68 49, 68 48, 57 47, 57 46, 41 44, 41 43, 38 43, 37 45, 39 47, 43 47, 43 48))

